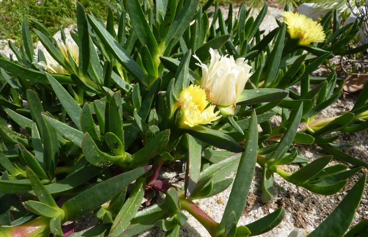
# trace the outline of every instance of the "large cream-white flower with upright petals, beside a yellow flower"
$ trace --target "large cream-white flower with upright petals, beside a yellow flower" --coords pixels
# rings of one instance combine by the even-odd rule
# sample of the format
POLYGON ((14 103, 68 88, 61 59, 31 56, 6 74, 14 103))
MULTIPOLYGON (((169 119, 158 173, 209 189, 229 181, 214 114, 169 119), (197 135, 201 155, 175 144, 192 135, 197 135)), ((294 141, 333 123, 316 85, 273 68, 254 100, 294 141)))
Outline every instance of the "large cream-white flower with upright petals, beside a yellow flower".
POLYGON ((201 87, 206 91, 212 104, 219 106, 235 105, 244 90, 251 66, 244 58, 234 60, 232 56, 221 56, 216 49, 210 48, 210 66, 194 56, 202 67, 201 87))

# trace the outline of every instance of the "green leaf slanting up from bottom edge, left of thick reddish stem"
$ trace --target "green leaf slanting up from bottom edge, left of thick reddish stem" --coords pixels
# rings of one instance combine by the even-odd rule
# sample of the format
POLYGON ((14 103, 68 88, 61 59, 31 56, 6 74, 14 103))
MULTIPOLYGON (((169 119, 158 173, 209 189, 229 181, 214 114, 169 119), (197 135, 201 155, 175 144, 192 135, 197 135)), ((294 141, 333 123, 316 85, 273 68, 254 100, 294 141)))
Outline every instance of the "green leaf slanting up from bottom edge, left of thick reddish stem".
POLYGON ((130 221, 136 215, 140 203, 143 199, 145 188, 145 179, 140 178, 136 181, 133 190, 130 192, 128 199, 117 214, 109 233, 109 237, 120 236, 130 224, 130 221))

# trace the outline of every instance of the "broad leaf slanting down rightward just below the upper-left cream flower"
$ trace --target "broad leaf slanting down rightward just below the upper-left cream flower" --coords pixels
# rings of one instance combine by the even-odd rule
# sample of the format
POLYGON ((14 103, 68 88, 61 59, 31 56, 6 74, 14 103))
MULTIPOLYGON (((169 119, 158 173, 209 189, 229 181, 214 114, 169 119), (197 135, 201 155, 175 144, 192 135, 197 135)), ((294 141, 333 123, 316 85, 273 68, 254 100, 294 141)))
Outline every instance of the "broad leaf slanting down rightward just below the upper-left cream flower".
POLYGON ((53 91, 57 95, 60 103, 63 105, 64 109, 69 114, 70 119, 73 121, 75 126, 78 127, 79 130, 82 130, 81 123, 79 120, 79 116, 82 112, 81 107, 75 102, 75 100, 70 96, 70 94, 56 79, 54 79, 48 73, 46 73, 46 77, 49 80, 51 86, 53 87, 53 91))

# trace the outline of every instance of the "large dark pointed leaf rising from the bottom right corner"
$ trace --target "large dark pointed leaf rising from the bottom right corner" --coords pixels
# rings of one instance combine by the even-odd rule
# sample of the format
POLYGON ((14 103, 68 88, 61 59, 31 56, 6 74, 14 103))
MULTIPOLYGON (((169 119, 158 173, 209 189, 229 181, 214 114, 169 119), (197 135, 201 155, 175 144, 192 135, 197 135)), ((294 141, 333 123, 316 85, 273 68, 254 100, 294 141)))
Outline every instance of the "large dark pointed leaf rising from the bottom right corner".
POLYGON ((343 237, 350 227, 366 186, 364 174, 333 212, 307 237, 343 237))

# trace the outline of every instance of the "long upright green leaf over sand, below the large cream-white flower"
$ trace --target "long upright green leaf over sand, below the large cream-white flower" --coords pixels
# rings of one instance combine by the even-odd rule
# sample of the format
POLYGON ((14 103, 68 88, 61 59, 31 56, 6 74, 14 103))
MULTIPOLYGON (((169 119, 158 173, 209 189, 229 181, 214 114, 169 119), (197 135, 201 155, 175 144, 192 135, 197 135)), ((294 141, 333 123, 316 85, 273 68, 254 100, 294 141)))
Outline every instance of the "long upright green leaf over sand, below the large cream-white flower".
POLYGON ((253 181, 253 174, 257 161, 257 145, 257 117, 256 114, 253 113, 250 117, 250 123, 245 137, 245 151, 240 158, 240 163, 235 176, 234 184, 229 195, 228 204, 226 205, 224 215, 221 220, 220 225, 224 227, 227 223, 226 221, 228 221, 228 218, 230 218, 229 215, 231 213, 235 214, 236 223, 238 220, 240 220, 245 206, 246 197, 248 196, 248 191, 253 181))

